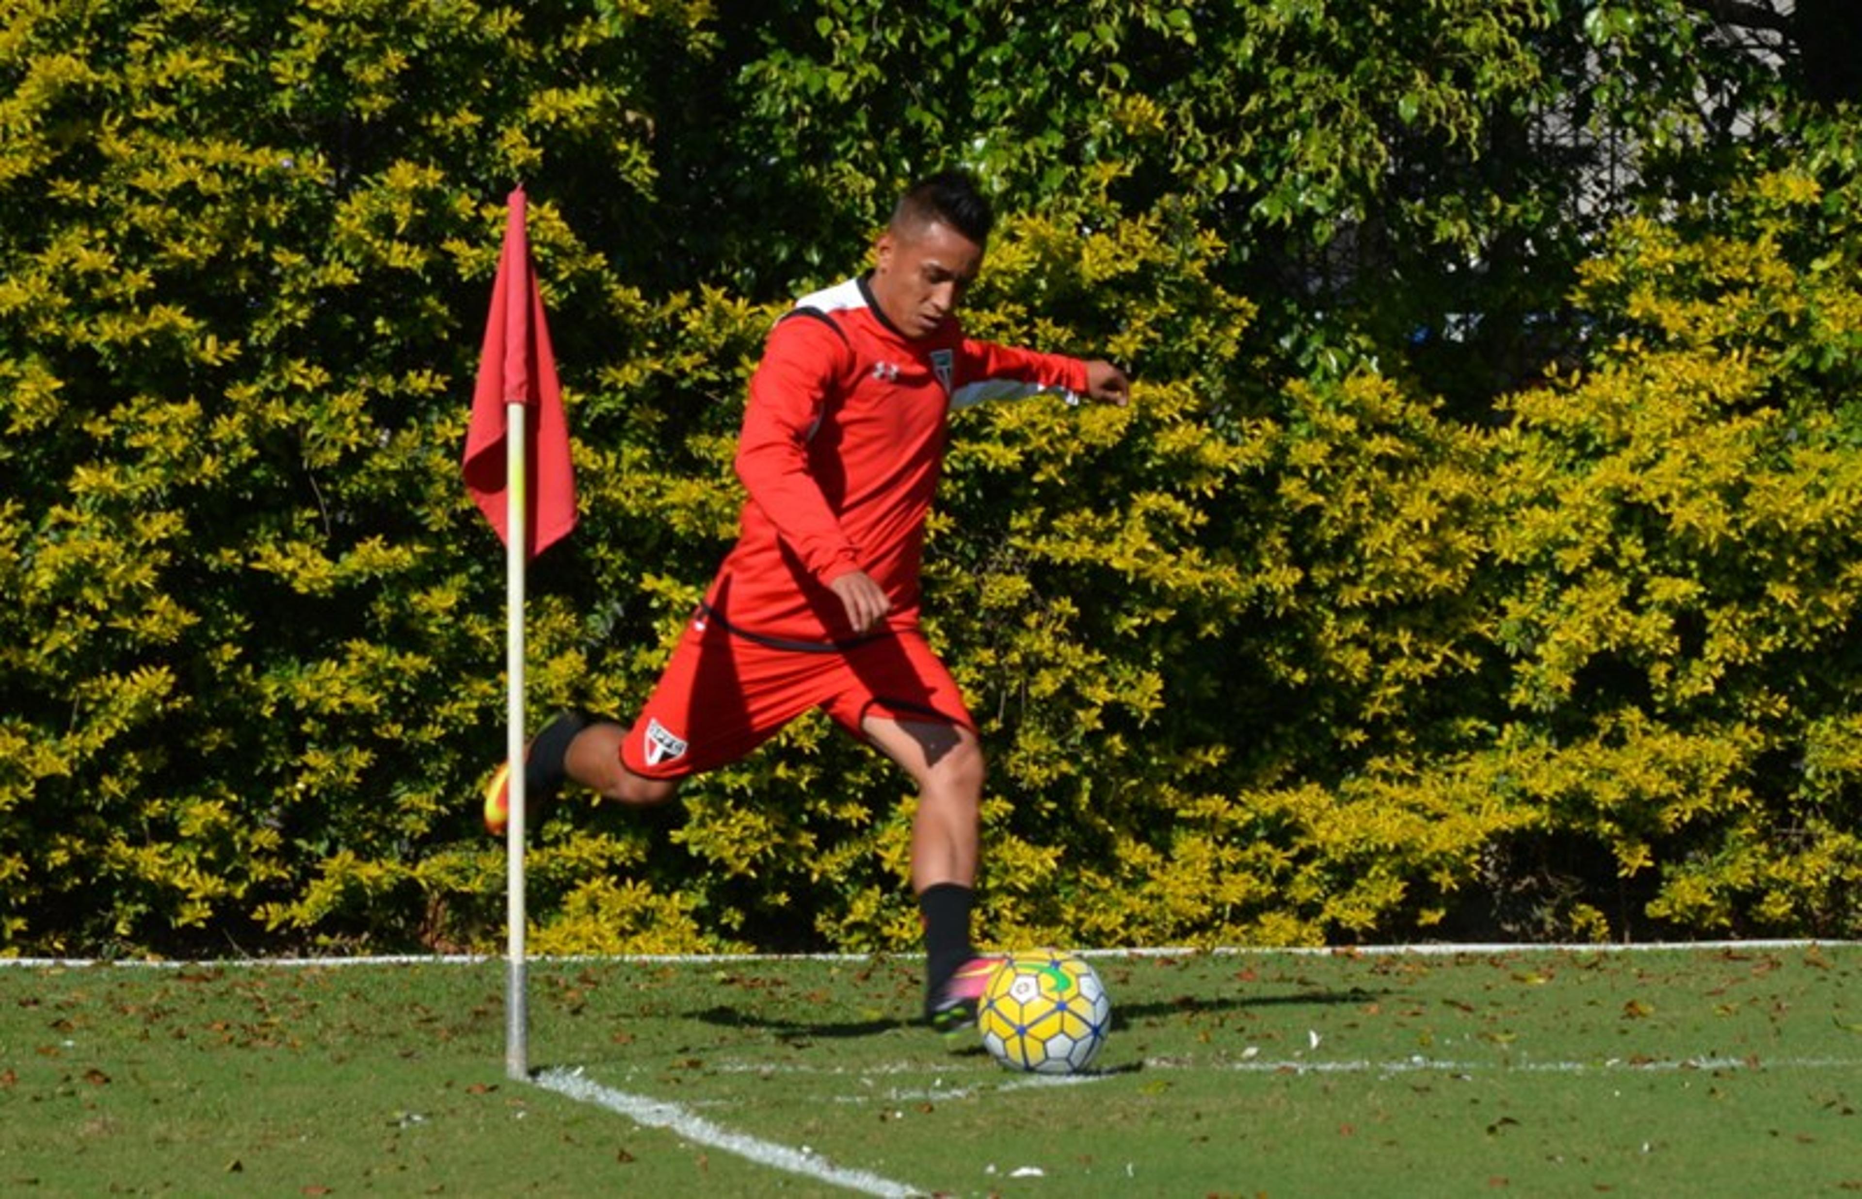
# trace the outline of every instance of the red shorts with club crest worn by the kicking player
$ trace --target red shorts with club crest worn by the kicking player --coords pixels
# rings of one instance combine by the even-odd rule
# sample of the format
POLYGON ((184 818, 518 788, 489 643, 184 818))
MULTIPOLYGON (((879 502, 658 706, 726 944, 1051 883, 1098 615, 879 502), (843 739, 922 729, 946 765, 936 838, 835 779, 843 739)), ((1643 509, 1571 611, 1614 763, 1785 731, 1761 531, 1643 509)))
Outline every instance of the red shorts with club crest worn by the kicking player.
POLYGON ((873 713, 976 728, 922 633, 816 650, 767 644, 700 614, 685 626, 620 760, 646 778, 685 778, 737 761, 812 707, 857 737, 873 713))

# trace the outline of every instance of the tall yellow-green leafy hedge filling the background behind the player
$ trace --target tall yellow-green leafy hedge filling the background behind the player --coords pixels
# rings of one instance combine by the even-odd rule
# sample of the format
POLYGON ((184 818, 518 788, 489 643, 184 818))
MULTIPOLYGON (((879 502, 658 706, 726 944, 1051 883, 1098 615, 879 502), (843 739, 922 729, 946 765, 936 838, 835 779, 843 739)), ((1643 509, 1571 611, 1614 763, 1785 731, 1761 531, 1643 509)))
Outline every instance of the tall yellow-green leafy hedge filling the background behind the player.
MULTIPOLYGON (((972 330, 1140 380, 953 421, 927 627, 991 758, 985 940, 1862 931, 1853 125, 1586 249, 1482 155, 1566 99, 1540 43, 1685 26, 862 4, 11 4, 0 953, 499 948, 458 452, 505 194, 581 495, 531 711, 627 715, 734 534, 763 333, 951 147, 1002 188, 972 330), (1462 298, 1434 259, 1525 240, 1590 259, 1588 341, 1465 421, 1396 348, 1462 298)), ((570 795, 533 944, 912 946, 912 808, 825 719, 674 808, 570 795)))

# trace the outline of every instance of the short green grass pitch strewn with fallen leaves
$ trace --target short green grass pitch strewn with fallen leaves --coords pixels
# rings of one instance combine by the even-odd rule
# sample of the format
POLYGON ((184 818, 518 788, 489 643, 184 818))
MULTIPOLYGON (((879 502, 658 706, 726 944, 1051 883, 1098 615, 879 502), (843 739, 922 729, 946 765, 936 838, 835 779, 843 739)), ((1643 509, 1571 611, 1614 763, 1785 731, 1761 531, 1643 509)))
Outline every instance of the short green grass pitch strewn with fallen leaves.
POLYGON ((22 1195, 1838 1195, 1862 946, 1095 955, 1095 1074, 909 959, 0 968, 22 1195))

